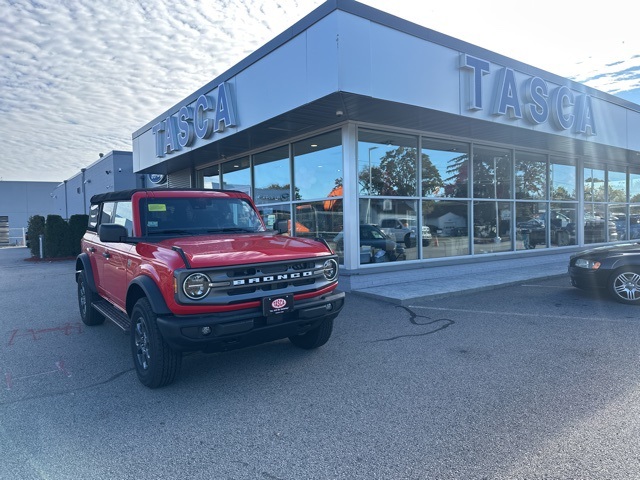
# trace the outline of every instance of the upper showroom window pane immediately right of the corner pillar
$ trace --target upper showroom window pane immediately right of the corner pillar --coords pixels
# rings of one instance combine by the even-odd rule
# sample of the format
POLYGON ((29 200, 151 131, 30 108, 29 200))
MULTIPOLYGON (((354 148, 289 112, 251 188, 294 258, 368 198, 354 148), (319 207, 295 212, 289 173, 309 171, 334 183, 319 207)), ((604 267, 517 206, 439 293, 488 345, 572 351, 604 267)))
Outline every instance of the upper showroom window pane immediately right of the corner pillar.
POLYGON ((358 185, 361 195, 415 196, 418 140, 386 132, 358 132, 358 185))

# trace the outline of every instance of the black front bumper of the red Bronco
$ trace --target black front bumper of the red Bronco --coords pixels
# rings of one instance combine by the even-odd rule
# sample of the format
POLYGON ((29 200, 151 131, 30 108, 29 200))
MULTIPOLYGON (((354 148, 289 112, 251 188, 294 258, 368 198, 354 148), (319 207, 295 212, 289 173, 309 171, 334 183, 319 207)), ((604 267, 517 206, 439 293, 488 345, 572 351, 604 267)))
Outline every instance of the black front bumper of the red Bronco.
POLYGON ((344 306, 344 292, 299 300, 292 311, 264 316, 261 309, 202 316, 159 316, 158 328, 177 351, 222 352, 301 335, 333 320, 344 306))

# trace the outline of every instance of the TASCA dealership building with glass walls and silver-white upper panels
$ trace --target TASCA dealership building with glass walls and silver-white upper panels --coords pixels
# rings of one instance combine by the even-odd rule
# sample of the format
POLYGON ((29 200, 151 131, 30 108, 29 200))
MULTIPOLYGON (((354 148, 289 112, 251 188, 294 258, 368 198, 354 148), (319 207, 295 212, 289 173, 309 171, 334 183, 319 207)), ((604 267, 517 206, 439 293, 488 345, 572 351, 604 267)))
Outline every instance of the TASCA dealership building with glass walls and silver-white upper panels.
POLYGON ((136 131, 133 171, 249 193, 349 289, 637 238, 639 131, 639 105, 329 0, 136 131))

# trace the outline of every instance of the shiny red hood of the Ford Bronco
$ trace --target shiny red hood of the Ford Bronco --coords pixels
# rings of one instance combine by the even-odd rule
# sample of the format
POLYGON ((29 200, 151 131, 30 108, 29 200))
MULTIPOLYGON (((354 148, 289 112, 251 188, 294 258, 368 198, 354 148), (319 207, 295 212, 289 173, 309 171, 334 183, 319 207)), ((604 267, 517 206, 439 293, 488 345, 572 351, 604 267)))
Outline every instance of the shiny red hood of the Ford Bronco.
POLYGON ((274 234, 179 237, 164 240, 159 245, 180 247, 191 268, 277 262, 329 253, 324 245, 314 240, 274 234))

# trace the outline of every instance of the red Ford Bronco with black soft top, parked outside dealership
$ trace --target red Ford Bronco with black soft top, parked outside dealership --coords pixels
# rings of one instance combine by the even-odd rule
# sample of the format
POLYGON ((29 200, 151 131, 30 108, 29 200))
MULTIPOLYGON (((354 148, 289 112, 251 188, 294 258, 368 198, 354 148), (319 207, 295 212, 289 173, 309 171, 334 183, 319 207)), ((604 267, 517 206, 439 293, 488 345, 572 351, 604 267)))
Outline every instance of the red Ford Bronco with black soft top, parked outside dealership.
POLYGON ((236 191, 141 189, 91 198, 76 260, 86 325, 130 333, 150 388, 175 380, 182 352, 282 338, 313 349, 344 305, 326 242, 268 231, 236 191))

